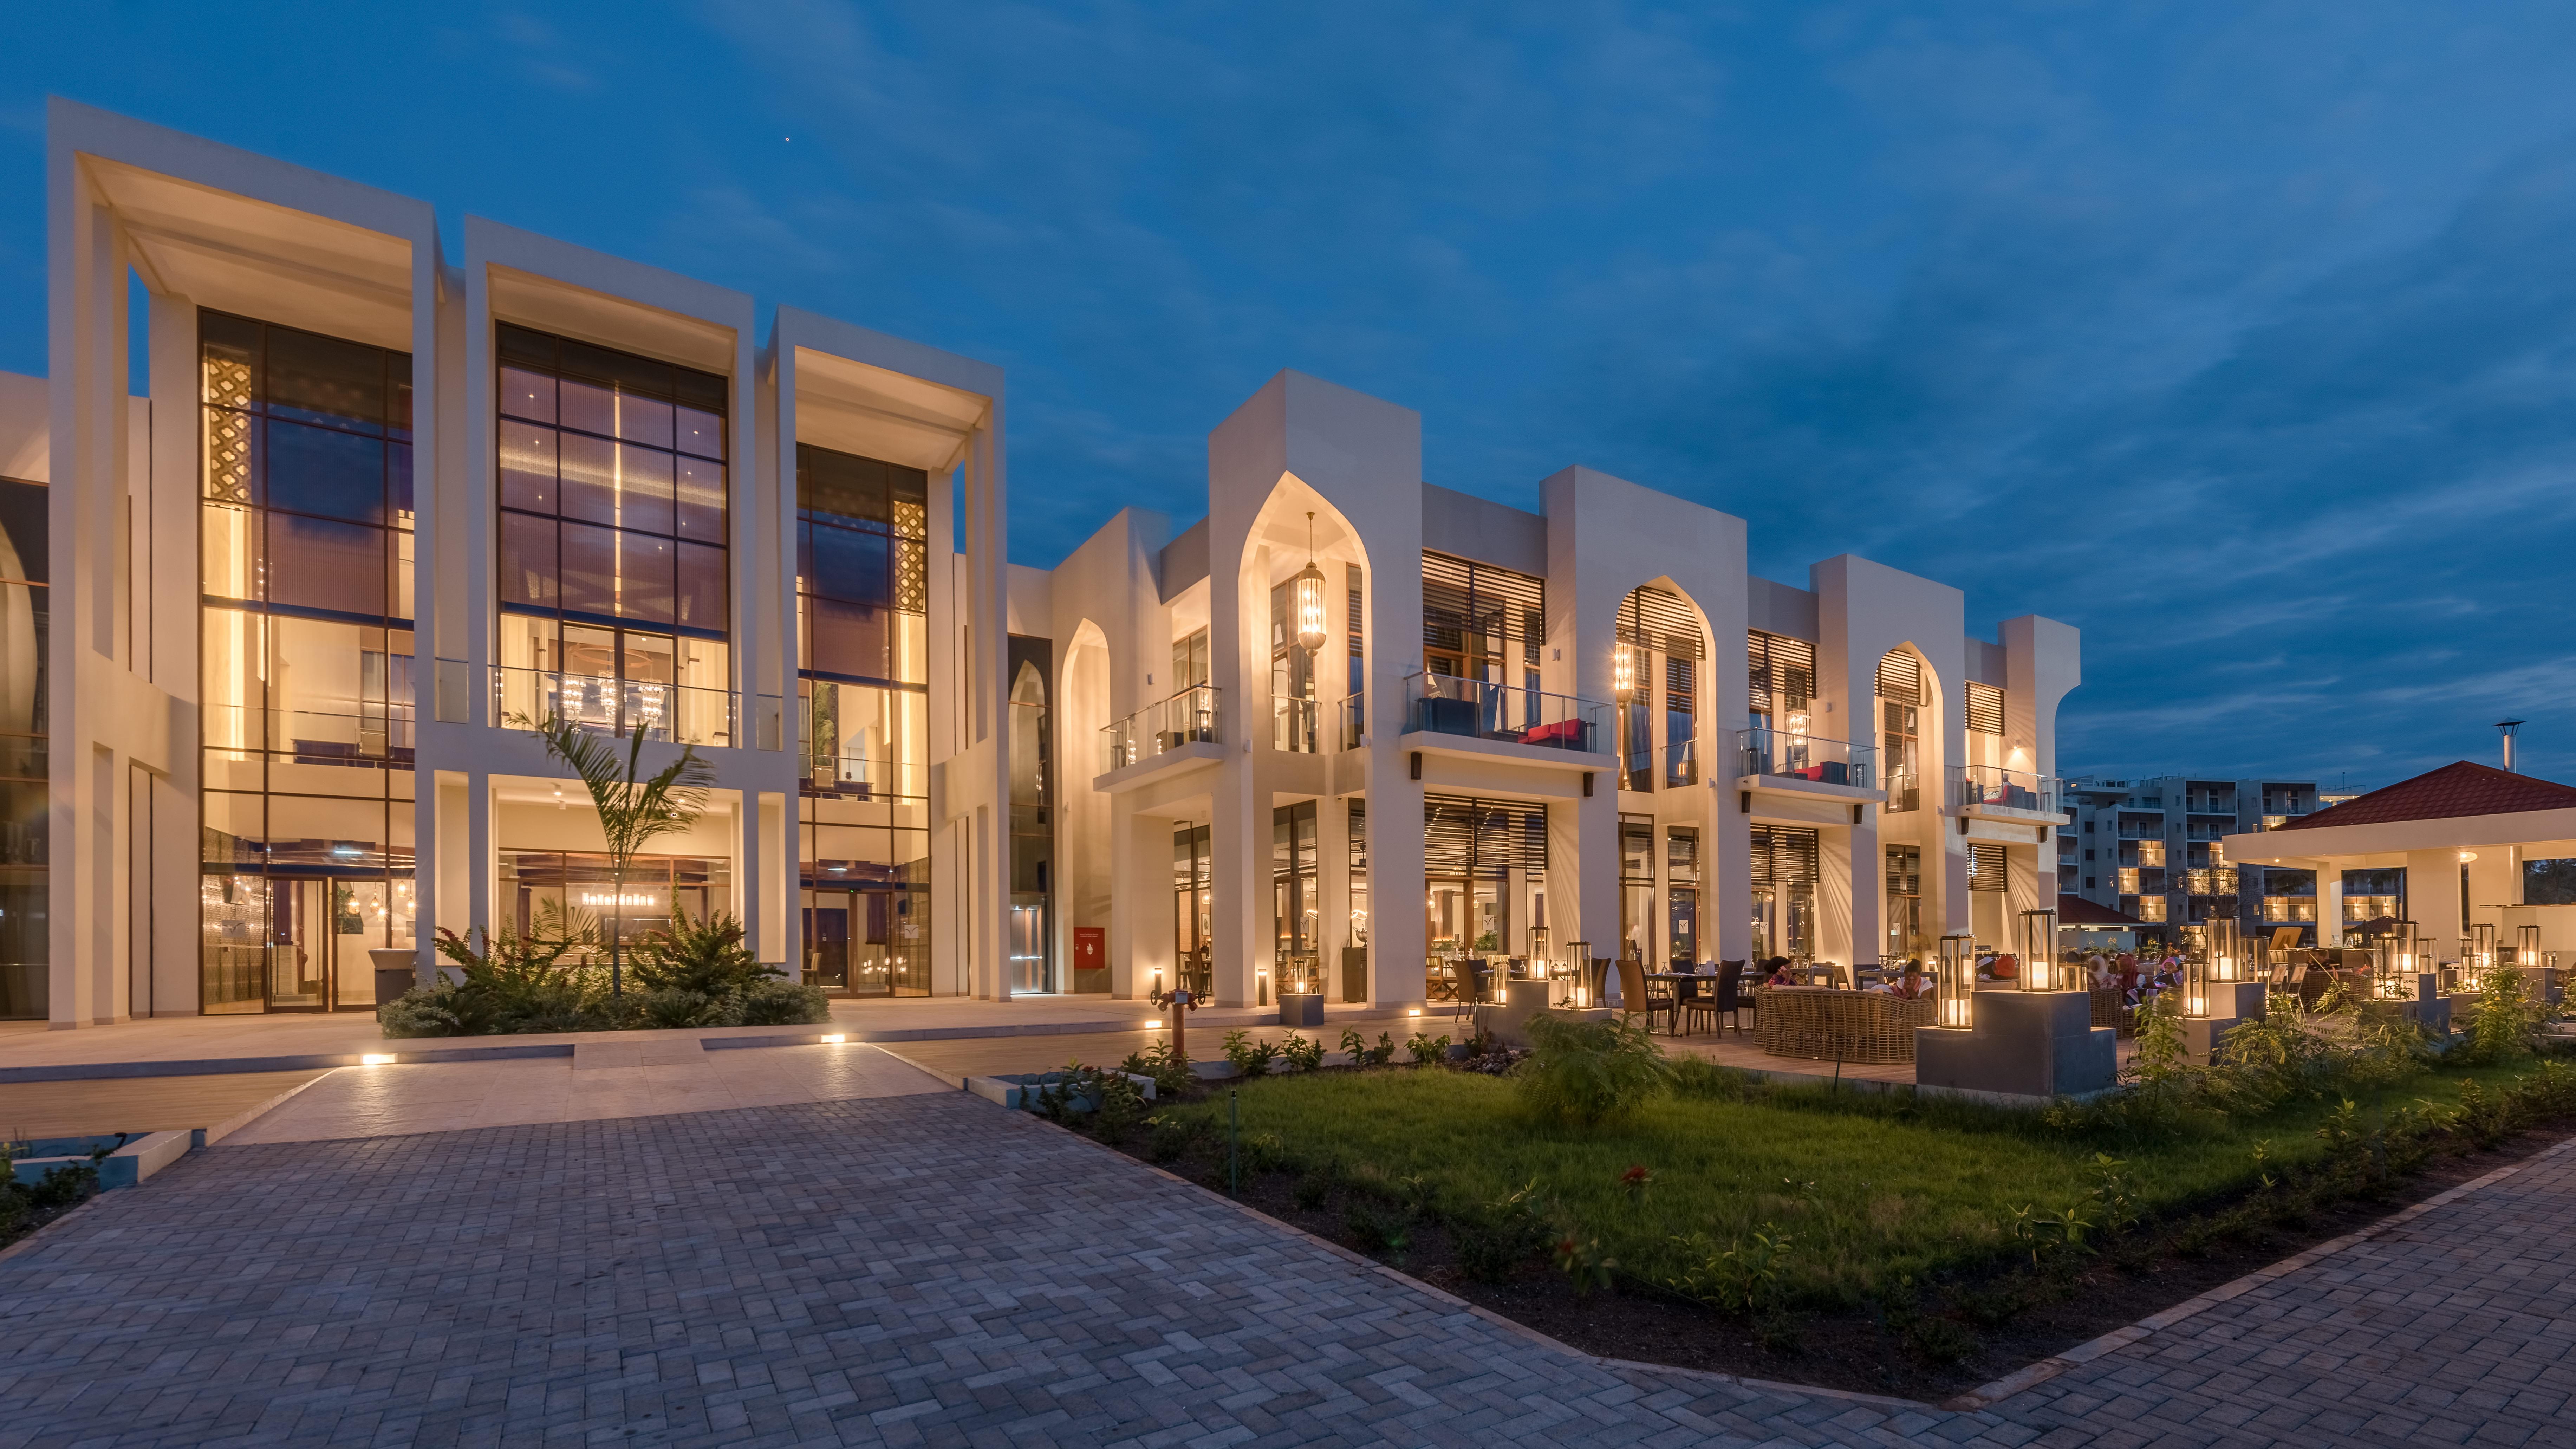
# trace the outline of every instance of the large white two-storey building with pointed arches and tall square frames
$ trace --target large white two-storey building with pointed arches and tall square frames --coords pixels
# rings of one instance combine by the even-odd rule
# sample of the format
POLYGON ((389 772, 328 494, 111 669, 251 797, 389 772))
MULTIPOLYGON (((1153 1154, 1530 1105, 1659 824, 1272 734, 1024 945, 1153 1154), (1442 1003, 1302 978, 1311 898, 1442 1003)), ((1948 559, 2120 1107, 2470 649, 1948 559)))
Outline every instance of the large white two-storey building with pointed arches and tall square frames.
POLYGON ((368 949, 603 902, 546 709, 714 763, 631 913, 850 995, 1404 1006, 1463 951, 2056 905, 2066 624, 1752 578, 1741 518, 1582 467, 1432 487, 1414 413, 1303 374, 1216 425, 1203 521, 1012 567, 989 364, 62 101, 46 217, 0 1016, 368 1008, 368 949))

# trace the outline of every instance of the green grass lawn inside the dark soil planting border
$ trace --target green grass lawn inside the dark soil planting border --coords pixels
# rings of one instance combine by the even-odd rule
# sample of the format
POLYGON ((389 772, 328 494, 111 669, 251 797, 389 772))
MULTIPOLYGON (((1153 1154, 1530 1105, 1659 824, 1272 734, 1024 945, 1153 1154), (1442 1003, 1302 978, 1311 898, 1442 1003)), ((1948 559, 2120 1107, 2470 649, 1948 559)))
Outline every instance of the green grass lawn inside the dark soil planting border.
MULTIPOLYGON (((2414 1101, 2450 1104, 2458 1080, 2501 1083, 2522 1067, 2427 1073, 2360 1098, 2362 1116, 2414 1101)), ((2035 1114, 1824 1088, 1726 1101, 1667 1096, 1628 1127, 1569 1129, 1525 1116, 1512 1083, 1437 1067, 1327 1070, 1242 1083, 1244 1137, 1275 1134, 1293 1171, 1419 1176, 1440 1212, 1473 1212, 1538 1183, 1582 1232, 1649 1281, 1677 1271, 1674 1238, 1718 1248, 1765 1225, 1793 1238, 1783 1287, 1808 1305, 1852 1305, 1899 1276, 1996 1263, 2014 1250, 2017 1207, 2084 1201, 2097 1152, 2125 1160, 2146 1217, 2249 1191, 2262 1171, 2324 1155, 2331 1104, 2293 1104, 2259 1122, 2210 1119, 2156 1142, 2061 1134, 2035 1114), (1654 1173, 1641 1199, 1620 1186, 1654 1173)), ((1224 1091, 1167 1109, 1224 1132, 1224 1091)), ((1267 1147, 1267 1142, 1262 1142, 1267 1147)))

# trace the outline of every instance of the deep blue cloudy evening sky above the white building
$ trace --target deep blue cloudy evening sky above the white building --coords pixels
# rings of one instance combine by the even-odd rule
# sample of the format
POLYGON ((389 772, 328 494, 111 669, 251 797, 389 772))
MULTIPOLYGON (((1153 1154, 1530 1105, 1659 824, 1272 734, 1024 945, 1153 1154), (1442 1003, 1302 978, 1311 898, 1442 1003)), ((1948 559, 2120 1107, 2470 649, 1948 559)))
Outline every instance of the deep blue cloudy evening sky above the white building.
POLYGON ((2571 75, 2548 3, 15 5, 0 369, 62 93, 1002 364, 1020 562, 1296 366, 2079 624, 2061 773, 2571 779, 2571 75))

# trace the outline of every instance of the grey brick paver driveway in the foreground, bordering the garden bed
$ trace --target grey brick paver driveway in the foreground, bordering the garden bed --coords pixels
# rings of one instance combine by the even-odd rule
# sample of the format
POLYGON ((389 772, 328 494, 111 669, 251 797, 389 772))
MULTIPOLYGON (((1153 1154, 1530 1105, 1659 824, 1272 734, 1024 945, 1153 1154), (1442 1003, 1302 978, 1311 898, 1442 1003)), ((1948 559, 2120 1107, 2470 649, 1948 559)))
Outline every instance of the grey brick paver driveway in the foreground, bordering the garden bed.
MULTIPOLYGON (((2481 1374, 2532 1361, 2411 1400, 2411 1441, 2563 1434, 2509 1413, 2555 1413, 2514 1395, 2555 1374, 2566 1269, 2535 1243, 2486 1263, 2524 1318, 2424 1328, 2481 1374)), ((2210 1392, 2239 1336, 2354 1307, 2249 1299, 1976 1415, 1615 1369, 940 1093, 201 1152, 0 1261, 0 1446, 2254 1444, 2210 1392)), ((2308 1330, 2269 1369, 2324 1395, 2298 1441, 2367 1439, 2429 1379, 2308 1330), (2349 1408, 2339 1374, 2388 1392, 2349 1408)))

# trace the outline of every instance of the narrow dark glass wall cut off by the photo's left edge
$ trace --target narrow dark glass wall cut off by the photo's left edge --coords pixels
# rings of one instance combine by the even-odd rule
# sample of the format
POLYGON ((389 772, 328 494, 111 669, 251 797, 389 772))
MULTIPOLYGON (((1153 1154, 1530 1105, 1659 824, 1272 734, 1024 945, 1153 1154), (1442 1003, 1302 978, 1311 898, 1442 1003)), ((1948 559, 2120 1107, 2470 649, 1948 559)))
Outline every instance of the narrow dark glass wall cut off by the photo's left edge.
POLYGON ((0 477, 0 1021, 41 1021, 46 962, 46 487, 0 477))

